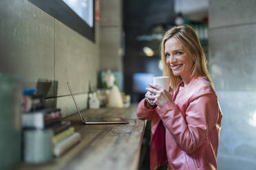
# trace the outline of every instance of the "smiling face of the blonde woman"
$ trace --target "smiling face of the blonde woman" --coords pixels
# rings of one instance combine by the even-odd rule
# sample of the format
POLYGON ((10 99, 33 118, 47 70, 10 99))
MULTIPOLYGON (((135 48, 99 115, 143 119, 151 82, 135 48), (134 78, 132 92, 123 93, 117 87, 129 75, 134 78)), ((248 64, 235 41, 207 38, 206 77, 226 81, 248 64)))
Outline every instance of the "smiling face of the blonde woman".
POLYGON ((164 56, 173 75, 182 77, 186 84, 192 74, 193 60, 176 38, 169 38, 164 44, 164 56))

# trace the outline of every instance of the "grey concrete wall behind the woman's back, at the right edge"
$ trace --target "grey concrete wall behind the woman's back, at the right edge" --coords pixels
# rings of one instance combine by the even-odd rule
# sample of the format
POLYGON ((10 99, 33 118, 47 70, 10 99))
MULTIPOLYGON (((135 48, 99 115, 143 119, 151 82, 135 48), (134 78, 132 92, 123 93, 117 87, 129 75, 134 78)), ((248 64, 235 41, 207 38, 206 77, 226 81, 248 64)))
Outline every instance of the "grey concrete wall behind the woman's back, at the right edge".
POLYGON ((209 68, 224 117, 220 170, 256 169, 256 1, 209 1, 209 68))

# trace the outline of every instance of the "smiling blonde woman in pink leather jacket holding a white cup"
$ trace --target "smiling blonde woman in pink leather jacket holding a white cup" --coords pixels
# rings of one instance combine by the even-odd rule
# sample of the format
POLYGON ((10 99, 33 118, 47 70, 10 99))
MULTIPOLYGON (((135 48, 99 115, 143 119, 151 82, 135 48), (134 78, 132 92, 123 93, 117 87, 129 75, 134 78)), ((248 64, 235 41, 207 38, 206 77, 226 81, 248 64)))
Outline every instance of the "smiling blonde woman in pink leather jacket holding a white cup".
POLYGON ((169 29, 161 43, 161 58, 170 91, 149 84, 137 111, 138 119, 151 120, 151 169, 165 162, 169 170, 217 169, 222 111, 193 29, 188 25, 169 29))

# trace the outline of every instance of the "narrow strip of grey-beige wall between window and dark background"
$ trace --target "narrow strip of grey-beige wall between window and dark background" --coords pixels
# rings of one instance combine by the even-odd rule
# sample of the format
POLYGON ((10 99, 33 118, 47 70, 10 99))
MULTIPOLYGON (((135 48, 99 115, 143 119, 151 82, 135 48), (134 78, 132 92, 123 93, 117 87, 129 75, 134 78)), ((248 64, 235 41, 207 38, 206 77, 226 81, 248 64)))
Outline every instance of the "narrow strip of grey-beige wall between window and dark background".
POLYGON ((122 71, 122 0, 100 1, 100 69, 122 71))

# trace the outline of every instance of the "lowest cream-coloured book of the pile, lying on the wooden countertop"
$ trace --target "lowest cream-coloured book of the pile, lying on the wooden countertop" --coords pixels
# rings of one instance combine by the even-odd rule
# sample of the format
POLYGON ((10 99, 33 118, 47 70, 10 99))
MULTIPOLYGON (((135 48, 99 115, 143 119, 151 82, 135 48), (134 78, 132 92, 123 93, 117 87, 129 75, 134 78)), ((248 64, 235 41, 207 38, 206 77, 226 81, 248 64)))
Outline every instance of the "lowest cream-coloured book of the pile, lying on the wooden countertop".
POLYGON ((56 143, 53 149, 54 156, 61 156, 65 151, 76 145, 81 141, 81 134, 76 132, 71 136, 65 138, 63 141, 56 143))

